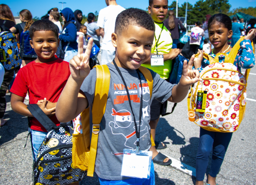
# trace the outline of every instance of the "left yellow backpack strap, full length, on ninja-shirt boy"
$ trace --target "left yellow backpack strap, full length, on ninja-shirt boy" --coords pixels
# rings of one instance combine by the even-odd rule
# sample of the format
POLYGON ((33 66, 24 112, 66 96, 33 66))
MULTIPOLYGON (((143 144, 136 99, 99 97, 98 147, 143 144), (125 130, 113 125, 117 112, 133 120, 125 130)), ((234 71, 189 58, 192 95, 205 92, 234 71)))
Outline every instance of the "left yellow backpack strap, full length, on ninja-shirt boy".
POLYGON ((98 147, 98 137, 100 132, 100 122, 103 115, 105 114, 110 84, 110 72, 108 66, 100 65, 94 67, 97 70, 97 81, 95 84, 95 93, 92 106, 93 128, 87 176, 93 176, 98 147))

